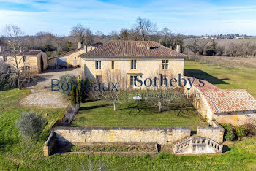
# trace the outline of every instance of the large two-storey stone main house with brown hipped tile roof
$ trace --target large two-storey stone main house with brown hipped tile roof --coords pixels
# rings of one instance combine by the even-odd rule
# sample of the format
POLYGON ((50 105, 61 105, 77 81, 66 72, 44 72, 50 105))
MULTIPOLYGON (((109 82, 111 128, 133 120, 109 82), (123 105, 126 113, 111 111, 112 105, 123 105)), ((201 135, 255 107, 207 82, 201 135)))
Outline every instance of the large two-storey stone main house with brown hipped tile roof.
POLYGON ((80 57, 84 79, 100 81, 107 71, 120 71, 130 88, 135 87, 137 75, 144 79, 159 77, 159 73, 172 77, 183 75, 186 58, 154 41, 109 41, 80 57))

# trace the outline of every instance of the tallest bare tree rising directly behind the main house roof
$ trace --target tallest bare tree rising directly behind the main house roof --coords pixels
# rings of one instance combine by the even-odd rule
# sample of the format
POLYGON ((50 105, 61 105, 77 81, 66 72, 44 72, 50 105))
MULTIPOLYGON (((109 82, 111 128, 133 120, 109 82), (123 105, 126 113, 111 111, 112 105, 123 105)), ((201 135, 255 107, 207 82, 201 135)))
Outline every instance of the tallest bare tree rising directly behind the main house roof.
POLYGON ((157 31, 157 24, 152 23, 149 19, 138 17, 135 30, 140 35, 140 39, 145 41, 148 39, 148 35, 154 34, 154 32, 157 31))

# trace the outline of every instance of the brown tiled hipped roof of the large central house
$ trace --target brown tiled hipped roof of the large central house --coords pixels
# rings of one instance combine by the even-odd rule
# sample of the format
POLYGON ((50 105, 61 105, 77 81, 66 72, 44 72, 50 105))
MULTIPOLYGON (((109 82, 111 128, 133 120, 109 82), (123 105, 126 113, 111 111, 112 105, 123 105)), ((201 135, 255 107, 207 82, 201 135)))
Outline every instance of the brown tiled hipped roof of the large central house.
POLYGON ((178 57, 186 55, 154 41, 108 41, 80 57, 178 57), (147 47, 150 47, 148 49, 147 47))

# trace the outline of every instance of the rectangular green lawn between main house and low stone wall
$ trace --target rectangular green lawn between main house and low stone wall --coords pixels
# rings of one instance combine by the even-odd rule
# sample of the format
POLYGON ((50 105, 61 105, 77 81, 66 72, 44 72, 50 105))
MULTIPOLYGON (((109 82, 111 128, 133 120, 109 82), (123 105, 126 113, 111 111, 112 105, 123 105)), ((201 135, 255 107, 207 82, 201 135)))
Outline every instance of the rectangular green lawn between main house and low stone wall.
MULTIPOLYGON (((133 100, 132 100, 133 101, 133 100)), ((178 115, 178 109, 158 113, 156 107, 145 104, 122 102, 113 111, 111 102, 103 100, 81 104, 81 110, 72 121, 79 127, 175 127, 187 126, 196 130, 197 126, 206 126, 194 107, 188 107, 178 115), (140 110, 138 110, 138 107, 140 110)))

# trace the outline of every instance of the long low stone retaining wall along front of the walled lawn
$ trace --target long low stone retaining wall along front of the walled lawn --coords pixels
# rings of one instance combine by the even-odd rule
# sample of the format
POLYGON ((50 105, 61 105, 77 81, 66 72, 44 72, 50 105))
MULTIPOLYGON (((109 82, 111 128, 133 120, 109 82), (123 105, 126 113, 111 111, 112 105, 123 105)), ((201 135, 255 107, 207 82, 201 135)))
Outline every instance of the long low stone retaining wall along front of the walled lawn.
POLYGON ((94 142, 157 142, 167 145, 190 136, 187 127, 176 128, 75 128, 56 127, 56 142, 59 144, 86 144, 94 142))

